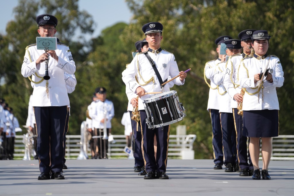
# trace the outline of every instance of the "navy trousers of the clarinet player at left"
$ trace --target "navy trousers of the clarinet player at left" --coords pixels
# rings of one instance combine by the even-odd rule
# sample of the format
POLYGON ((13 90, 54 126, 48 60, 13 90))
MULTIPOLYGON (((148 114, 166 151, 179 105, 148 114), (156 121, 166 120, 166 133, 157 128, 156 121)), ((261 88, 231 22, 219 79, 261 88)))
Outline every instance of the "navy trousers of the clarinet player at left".
POLYGON ((34 113, 40 172, 61 172, 67 106, 34 107, 34 113))

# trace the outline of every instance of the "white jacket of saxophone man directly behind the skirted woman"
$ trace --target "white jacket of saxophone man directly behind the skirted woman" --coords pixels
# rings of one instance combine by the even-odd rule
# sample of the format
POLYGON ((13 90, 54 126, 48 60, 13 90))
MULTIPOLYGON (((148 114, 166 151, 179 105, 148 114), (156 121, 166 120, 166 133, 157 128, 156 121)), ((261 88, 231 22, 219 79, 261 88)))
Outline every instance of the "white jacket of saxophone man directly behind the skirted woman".
POLYGON ((227 61, 227 68, 225 71, 225 79, 223 86, 231 98, 231 108, 237 108, 238 103, 235 101, 234 95, 241 92, 241 87, 238 82, 238 69, 243 58, 242 54, 230 56, 227 61))

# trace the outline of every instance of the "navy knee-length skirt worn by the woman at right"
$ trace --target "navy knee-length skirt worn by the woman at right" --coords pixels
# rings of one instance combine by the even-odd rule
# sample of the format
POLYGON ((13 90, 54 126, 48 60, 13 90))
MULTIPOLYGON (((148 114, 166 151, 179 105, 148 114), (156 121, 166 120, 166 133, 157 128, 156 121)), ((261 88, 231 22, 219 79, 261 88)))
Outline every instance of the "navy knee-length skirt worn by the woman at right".
POLYGON ((270 138, 279 135, 279 110, 243 111, 243 136, 270 138))

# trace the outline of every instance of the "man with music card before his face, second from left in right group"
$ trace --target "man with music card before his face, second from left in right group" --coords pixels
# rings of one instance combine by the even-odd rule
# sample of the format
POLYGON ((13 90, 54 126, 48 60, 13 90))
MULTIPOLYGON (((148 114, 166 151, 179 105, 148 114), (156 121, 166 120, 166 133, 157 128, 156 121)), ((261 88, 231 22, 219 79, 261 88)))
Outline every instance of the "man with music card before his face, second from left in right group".
MULTIPOLYGON (((224 43, 226 44, 227 57, 240 53, 242 48, 240 40, 229 39, 225 40, 224 43)), ((226 61, 218 63, 213 80, 216 85, 218 85, 218 99, 221 103, 219 105, 219 113, 223 135, 224 165, 226 166, 225 172, 235 172, 236 169, 239 170, 236 151, 236 132, 233 113, 230 107, 231 98, 223 86, 225 73, 227 73, 226 67, 226 61)))

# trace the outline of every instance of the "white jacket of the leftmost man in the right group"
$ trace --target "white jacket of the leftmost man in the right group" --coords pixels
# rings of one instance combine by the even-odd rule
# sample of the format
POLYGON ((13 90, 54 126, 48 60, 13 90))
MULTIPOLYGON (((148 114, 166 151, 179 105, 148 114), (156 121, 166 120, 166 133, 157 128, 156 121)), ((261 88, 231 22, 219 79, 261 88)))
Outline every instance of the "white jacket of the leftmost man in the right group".
POLYGON ((205 64, 205 68, 204 68, 205 77, 210 80, 207 110, 209 109, 219 110, 218 89, 217 89, 216 83, 213 80, 216 66, 218 63, 220 63, 220 59, 208 61, 205 64))

